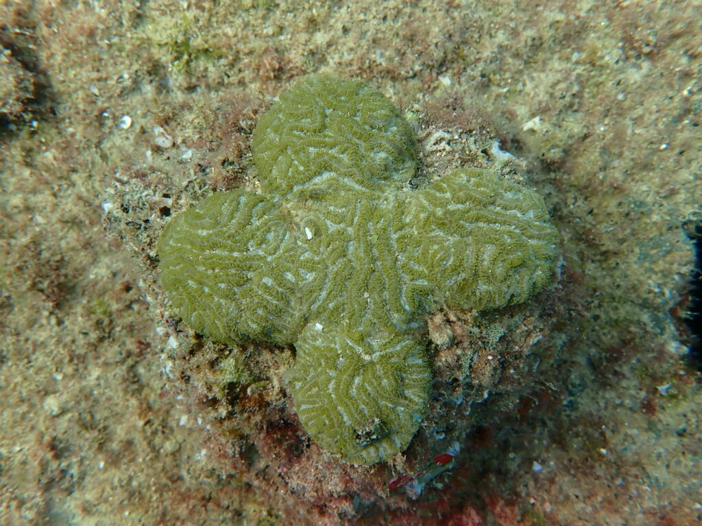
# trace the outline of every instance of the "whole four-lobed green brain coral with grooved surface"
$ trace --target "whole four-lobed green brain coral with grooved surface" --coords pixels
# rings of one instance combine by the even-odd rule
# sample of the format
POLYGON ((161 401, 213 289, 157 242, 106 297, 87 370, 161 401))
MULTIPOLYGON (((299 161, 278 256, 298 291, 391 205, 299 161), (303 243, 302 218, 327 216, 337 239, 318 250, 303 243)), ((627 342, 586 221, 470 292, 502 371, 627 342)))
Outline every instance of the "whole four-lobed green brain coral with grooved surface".
POLYGON ((352 464, 387 459, 428 405, 428 313, 522 302, 548 282, 543 199, 475 168, 403 190, 411 129, 378 91, 330 76, 260 118, 253 159, 262 194, 213 194, 166 226, 161 283, 204 335, 294 344, 305 430, 352 464))

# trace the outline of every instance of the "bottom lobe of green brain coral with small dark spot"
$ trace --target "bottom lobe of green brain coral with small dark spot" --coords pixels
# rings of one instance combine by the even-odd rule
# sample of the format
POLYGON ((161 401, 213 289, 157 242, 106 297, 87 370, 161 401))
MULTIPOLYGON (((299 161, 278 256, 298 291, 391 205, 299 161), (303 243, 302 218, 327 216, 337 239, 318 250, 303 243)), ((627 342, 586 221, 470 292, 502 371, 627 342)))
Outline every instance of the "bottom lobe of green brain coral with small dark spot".
POLYGON ((427 407, 431 370, 424 348, 418 335, 368 337, 308 325, 289 378, 307 433, 351 464, 404 450, 427 407))

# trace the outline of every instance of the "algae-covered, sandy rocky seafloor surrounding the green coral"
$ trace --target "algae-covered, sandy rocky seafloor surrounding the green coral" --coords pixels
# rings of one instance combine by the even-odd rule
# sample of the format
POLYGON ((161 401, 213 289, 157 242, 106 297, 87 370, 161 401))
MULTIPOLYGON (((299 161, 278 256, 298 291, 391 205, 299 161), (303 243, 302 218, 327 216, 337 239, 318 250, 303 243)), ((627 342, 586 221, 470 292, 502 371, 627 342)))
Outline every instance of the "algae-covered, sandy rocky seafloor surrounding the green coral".
POLYGON ((697 524, 697 11, 1 4, 0 522, 697 524), (366 468, 297 421, 295 349, 203 338, 157 281, 164 224, 256 191, 258 116, 312 72, 390 97, 420 178, 498 170, 561 239, 529 302, 430 316, 427 417, 366 468))

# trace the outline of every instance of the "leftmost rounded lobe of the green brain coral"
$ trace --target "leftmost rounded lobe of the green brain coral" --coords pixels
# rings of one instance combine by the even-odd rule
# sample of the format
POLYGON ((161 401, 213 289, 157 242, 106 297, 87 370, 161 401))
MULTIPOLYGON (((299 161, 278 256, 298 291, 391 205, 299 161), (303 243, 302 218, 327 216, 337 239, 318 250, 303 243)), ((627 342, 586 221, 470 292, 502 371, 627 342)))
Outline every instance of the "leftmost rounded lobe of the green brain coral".
POLYGON ((218 342, 293 342, 306 317, 296 301, 303 269, 289 262, 295 237, 274 201, 218 192, 166 225, 161 285, 185 323, 218 342), (283 274, 273 259, 287 263, 283 274))

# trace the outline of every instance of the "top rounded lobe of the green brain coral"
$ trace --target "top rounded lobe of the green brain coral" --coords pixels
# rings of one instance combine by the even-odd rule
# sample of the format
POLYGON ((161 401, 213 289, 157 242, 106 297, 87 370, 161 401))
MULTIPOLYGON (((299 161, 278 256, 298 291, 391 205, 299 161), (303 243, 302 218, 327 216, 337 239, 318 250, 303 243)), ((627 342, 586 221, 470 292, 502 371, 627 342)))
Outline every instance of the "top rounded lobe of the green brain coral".
POLYGON ((261 190, 282 198, 305 189, 378 189, 416 172, 416 139, 397 108, 363 82, 312 75, 258 121, 253 162, 261 190), (333 181, 329 181, 329 177, 333 181))

